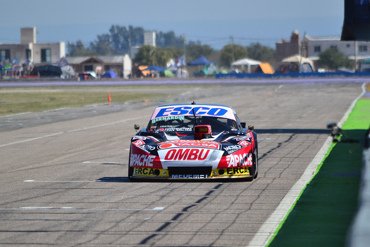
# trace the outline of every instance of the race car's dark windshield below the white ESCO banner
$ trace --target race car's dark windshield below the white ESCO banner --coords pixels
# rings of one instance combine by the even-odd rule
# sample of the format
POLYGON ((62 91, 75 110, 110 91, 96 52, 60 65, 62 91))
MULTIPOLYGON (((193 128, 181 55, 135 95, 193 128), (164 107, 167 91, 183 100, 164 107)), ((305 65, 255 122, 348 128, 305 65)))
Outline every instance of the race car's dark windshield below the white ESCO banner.
POLYGON ((170 119, 164 117, 151 121, 148 125, 147 130, 156 126, 157 131, 165 131, 168 134, 178 134, 187 132, 190 134, 194 130, 195 125, 209 124, 211 125, 213 133, 221 133, 222 131, 230 131, 237 129, 236 123, 232 119, 226 119, 222 117, 209 117, 209 116, 196 116, 196 123, 194 116, 178 116, 176 119, 170 119))

